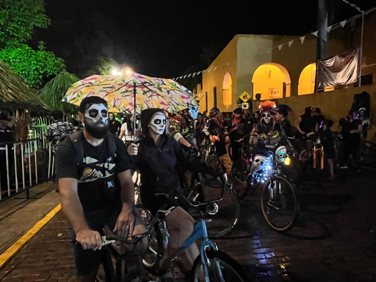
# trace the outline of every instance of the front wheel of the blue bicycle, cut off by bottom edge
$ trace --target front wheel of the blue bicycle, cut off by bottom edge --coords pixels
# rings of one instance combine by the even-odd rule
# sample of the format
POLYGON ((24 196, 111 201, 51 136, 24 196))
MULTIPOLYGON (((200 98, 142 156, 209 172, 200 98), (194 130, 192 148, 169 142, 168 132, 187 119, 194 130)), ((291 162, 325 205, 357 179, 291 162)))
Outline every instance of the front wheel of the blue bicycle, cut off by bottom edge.
MULTIPOLYGON (((226 253, 207 250, 206 257, 210 262, 207 265, 210 282, 248 282, 251 280, 244 269, 226 253)), ((192 265, 191 281, 205 281, 202 269, 202 261, 199 255, 192 265)))

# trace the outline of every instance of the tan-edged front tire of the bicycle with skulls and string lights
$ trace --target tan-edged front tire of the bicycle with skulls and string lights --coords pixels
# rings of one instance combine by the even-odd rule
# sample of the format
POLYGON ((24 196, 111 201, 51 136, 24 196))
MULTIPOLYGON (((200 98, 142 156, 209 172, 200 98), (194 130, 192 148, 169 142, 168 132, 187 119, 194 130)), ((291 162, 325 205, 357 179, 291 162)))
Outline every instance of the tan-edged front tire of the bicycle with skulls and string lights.
POLYGON ((299 218, 299 200, 298 200, 298 194, 297 194, 297 190, 295 188, 295 185, 293 183, 291 183, 290 180, 288 180, 286 177, 281 176, 281 175, 277 175, 277 176, 271 177, 271 179, 269 179, 267 182, 265 182, 261 191, 262 191, 261 192, 261 211, 262 211, 262 215, 265 218, 265 221, 269 224, 269 226, 271 228, 273 228, 276 231, 286 231, 288 229, 291 229, 291 227, 293 227, 294 223, 296 223, 297 219, 299 218), (294 203, 295 203, 295 205, 293 207, 293 217, 288 222, 288 224, 285 224, 284 226, 277 226, 275 223, 271 222, 269 215, 268 215, 268 211, 265 211, 265 209, 268 208, 268 203, 267 203, 268 199, 264 199, 265 190, 266 190, 267 195, 268 195, 269 183, 273 180, 276 180, 276 179, 283 180, 284 182, 286 182, 288 184, 288 187, 291 190, 291 194, 294 198, 294 203), (267 200, 267 201, 265 202, 265 200, 267 200))

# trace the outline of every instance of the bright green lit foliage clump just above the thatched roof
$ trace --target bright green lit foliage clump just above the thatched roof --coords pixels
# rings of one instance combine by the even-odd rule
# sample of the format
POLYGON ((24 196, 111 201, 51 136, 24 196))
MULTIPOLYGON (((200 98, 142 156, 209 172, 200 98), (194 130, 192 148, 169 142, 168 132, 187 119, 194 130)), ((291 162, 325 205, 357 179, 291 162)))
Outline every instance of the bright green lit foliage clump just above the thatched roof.
POLYGON ((63 59, 43 49, 43 42, 39 42, 38 51, 26 44, 7 47, 0 50, 0 60, 8 64, 18 76, 25 80, 27 85, 41 88, 51 76, 65 70, 63 59))

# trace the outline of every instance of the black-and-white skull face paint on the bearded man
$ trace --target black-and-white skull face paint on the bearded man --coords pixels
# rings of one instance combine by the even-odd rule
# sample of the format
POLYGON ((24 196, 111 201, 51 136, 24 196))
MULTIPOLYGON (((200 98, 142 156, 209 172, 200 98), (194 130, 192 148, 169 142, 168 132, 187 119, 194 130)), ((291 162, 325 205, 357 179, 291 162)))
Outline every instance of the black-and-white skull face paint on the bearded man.
POLYGON ((85 129, 97 139, 102 139, 108 131, 108 112, 103 104, 92 104, 85 111, 85 129))

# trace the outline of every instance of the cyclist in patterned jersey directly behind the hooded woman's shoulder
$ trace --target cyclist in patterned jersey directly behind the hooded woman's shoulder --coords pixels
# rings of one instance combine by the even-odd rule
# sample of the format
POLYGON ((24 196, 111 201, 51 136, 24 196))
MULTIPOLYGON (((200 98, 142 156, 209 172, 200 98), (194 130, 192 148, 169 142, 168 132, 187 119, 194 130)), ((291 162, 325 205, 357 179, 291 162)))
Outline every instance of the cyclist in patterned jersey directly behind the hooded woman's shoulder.
POLYGON ((186 109, 183 109, 176 116, 171 118, 170 127, 168 128, 168 133, 176 141, 183 144, 186 147, 194 146, 196 147, 196 121, 197 112, 194 112, 195 116, 192 117, 189 105, 186 109))

